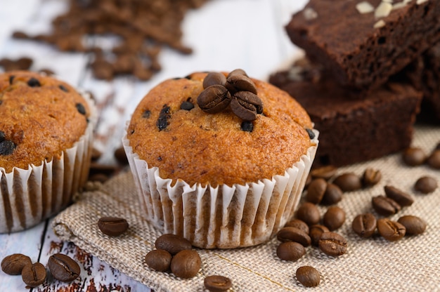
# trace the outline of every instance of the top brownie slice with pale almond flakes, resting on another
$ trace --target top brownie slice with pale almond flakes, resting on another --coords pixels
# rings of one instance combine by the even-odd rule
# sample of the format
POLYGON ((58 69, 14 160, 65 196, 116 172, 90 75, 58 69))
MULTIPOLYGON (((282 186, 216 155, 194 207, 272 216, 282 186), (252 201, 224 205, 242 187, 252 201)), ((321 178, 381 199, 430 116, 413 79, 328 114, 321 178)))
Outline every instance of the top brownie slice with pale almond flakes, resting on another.
POLYGON ((286 26, 344 86, 375 88, 440 40, 440 1, 310 0, 286 26))

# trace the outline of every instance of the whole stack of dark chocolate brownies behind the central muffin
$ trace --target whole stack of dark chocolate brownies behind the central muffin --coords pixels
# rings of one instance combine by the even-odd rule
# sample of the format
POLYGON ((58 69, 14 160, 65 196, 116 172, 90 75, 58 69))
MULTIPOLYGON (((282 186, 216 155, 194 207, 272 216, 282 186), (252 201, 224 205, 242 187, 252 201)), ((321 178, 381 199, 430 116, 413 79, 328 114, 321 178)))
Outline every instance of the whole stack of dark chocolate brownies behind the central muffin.
POLYGON ((287 34, 306 58, 270 82, 321 132, 315 167, 410 145, 423 95, 430 110, 440 107, 439 15, 436 0, 310 0, 292 16, 287 34))

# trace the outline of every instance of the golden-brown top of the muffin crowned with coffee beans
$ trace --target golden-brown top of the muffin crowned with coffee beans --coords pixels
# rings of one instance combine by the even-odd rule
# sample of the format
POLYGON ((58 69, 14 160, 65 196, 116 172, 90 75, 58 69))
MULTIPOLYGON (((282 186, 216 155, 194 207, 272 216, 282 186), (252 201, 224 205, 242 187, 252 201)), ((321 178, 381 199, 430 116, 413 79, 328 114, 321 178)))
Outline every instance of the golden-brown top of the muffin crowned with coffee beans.
POLYGON ((262 105, 256 105, 254 95, 229 88, 231 95, 241 98, 229 96, 226 105, 212 100, 210 109, 221 107, 212 111, 206 108, 209 97, 203 98, 209 90, 205 77, 207 73, 196 72, 162 82, 145 95, 131 117, 129 145, 148 167, 159 168, 161 178, 189 185, 244 185, 284 175, 314 145, 308 114, 285 91, 250 79, 254 88, 247 91, 256 91, 262 105), (248 108, 257 114, 252 117, 248 108))

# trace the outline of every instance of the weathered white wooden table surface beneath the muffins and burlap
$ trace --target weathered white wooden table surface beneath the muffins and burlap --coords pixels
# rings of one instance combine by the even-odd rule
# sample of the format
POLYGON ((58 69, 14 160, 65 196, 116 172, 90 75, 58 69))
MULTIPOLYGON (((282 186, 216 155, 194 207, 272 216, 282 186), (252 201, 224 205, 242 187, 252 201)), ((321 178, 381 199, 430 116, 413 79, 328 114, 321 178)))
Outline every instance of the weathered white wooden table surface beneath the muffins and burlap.
MULTIPOLYGON (((101 162, 114 163, 113 150, 119 147, 125 122, 137 103, 160 81, 186 76, 194 71, 245 69, 250 76, 266 79, 268 74, 288 63, 299 50, 290 43, 284 25, 306 0, 211 0, 190 11, 183 22, 183 42, 193 55, 164 49, 160 54, 162 71, 147 82, 122 77, 98 81, 86 69, 89 58, 80 53, 60 53, 46 44, 19 41, 11 32, 46 33, 50 21, 67 8, 65 0, 0 0, 0 58, 34 59, 31 69, 52 69, 60 79, 95 95, 101 122, 96 147, 104 154, 101 162)), ((104 46, 111 40, 99 39, 104 46)), ((150 291, 143 284, 112 269, 93 255, 69 242, 60 241, 51 230, 51 220, 23 232, 0 234, 0 259, 11 253, 29 255, 33 262, 46 265, 48 256, 61 252, 82 266, 81 281, 63 284, 51 280, 31 291, 150 291)), ((20 276, 0 272, 0 291, 26 291, 20 276)))

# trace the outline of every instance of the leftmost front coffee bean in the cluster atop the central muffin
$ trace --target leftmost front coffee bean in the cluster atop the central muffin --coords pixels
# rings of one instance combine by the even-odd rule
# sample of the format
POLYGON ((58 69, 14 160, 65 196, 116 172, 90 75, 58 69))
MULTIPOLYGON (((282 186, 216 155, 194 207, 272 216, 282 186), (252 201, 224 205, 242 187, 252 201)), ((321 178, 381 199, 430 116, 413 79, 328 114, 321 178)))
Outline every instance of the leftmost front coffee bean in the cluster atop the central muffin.
POLYGON ((206 88, 197 98, 197 104, 203 112, 216 114, 231 103, 231 93, 225 86, 213 85, 206 88))

